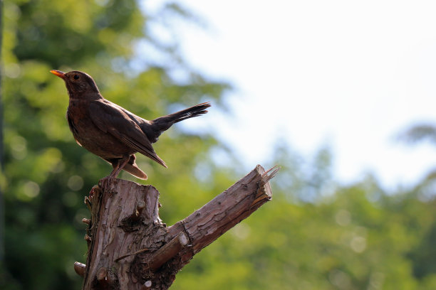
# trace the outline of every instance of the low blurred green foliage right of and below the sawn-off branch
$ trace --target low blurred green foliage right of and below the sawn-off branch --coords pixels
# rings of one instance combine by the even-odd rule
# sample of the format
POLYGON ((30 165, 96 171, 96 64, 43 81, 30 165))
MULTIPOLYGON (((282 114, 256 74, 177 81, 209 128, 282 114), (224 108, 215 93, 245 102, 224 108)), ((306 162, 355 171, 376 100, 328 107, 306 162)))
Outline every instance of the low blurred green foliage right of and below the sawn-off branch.
MULTIPOLYGON (((292 176, 310 163, 277 153, 275 162, 285 166, 273 202, 209 245, 177 276, 175 289, 435 288, 435 200, 420 200, 415 190, 387 192, 372 176, 308 200, 300 193, 313 183, 292 176)), ((309 172, 330 167, 315 164, 309 172)), ((331 183, 321 176, 317 188, 331 183)))

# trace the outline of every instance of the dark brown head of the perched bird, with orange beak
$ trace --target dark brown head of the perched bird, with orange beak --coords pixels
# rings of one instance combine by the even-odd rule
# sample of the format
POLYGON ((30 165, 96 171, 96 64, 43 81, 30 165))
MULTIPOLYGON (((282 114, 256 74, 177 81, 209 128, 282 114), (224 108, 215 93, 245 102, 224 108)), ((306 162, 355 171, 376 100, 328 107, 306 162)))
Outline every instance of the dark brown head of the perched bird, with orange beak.
POLYGON ((90 75, 78 70, 63 73, 61 70, 51 70, 50 73, 61 77, 65 81, 68 95, 73 99, 90 98, 100 96, 97 85, 90 75))

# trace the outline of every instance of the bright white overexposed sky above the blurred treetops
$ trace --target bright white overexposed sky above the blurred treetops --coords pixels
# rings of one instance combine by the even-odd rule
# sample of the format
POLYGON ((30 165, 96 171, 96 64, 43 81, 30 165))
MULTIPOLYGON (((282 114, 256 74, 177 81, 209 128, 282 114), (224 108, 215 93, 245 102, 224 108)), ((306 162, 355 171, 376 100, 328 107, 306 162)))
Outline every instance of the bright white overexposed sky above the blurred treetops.
POLYGON ((307 158, 329 146, 343 183, 412 186, 436 168, 435 146, 395 138, 436 125, 435 1, 176 2, 207 23, 177 28, 187 63, 235 87, 232 117, 207 122, 246 168, 279 139, 307 158))

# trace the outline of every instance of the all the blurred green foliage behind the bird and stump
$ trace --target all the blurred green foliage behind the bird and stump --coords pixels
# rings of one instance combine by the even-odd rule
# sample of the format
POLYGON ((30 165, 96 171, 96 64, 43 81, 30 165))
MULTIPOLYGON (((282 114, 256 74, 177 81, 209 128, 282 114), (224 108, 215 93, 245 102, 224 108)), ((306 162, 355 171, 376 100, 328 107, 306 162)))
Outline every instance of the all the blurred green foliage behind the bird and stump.
MULTIPOLYGON (((66 89, 49 70, 90 73, 108 100, 147 119, 204 100, 217 109, 229 85, 190 69, 177 41, 150 32, 159 25, 173 35, 172 18, 197 21, 173 3, 153 13, 134 0, 4 3, 0 289, 81 288, 73 262, 85 262, 83 196, 111 170, 73 140, 66 89)), ((168 225, 242 177, 225 148, 232 163, 212 161, 220 146, 176 125, 155 145, 169 168, 138 156, 168 225)), ((174 289, 436 289, 434 176, 393 193, 371 176, 336 184, 328 148, 304 161, 279 144, 275 163, 274 200, 197 254, 174 289)))

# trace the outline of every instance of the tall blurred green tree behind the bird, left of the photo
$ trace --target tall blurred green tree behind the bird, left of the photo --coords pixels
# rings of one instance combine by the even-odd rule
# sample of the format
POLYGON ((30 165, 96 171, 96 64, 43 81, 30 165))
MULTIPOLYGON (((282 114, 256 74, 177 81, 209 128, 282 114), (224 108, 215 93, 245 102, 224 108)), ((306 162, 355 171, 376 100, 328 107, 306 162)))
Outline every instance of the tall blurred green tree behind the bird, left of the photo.
MULTIPOLYGON (((176 15, 192 18, 175 4, 163 4, 149 14, 135 0, 4 4, 6 178, 1 185, 6 190, 7 267, 1 289, 80 288, 81 278, 72 265, 83 262, 86 254, 81 218, 89 213, 81 200, 111 171, 73 141, 65 119, 66 89, 49 70, 88 72, 106 98, 147 119, 173 111, 170 104, 217 102, 227 89, 191 70, 177 54, 177 43, 152 34, 152 23, 165 23, 162 31, 173 33, 168 23, 176 15), (145 50, 150 55, 144 56, 145 50), (144 60, 156 55, 164 59, 144 60), (180 72, 183 80, 173 77, 180 72)), ((163 218, 178 220, 207 201, 192 176, 211 146, 217 146, 212 136, 194 136, 176 127, 155 146, 169 170, 138 158, 171 210, 163 218), (187 198, 197 203, 184 207, 187 198)))

